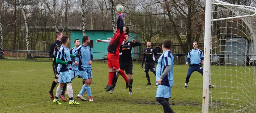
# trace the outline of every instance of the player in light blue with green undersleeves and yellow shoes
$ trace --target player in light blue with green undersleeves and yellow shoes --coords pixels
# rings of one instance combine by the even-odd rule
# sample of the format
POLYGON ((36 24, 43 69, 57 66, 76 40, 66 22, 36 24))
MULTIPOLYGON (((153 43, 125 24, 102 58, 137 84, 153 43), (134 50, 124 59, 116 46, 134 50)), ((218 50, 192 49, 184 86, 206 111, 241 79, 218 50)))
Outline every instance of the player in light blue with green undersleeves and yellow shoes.
POLYGON ((62 105, 62 103, 59 102, 58 98, 61 95, 62 88, 64 84, 67 84, 67 92, 69 95, 69 104, 70 105, 78 105, 79 102, 76 102, 73 100, 73 90, 72 90, 72 82, 69 74, 69 67, 70 64, 72 64, 71 57, 79 57, 80 55, 71 55, 67 46, 69 44, 69 36, 63 36, 61 38, 61 47, 58 49, 57 52, 57 59, 56 63, 58 64, 57 71, 59 73, 59 86, 56 90, 56 96, 53 100, 54 103, 58 105, 62 105))

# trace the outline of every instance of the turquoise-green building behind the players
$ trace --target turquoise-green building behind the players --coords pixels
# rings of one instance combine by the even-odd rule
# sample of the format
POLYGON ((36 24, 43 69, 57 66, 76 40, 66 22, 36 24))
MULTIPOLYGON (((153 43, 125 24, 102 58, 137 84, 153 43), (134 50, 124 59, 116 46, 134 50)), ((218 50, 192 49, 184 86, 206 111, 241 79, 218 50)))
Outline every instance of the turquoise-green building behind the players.
MULTIPOLYGON (((79 39, 81 44, 82 44, 82 30, 71 30, 71 39, 70 39, 70 47, 74 48, 75 44, 74 41, 75 39, 79 39)), ((107 48, 108 48, 108 43, 96 43, 97 39, 101 40, 107 40, 108 37, 112 38, 113 37, 113 32, 110 30, 86 30, 86 35, 90 37, 91 43, 90 46, 92 47, 92 52, 93 52, 93 59, 102 59, 104 55, 108 54, 107 48)), ((129 33, 129 41, 131 40, 137 40, 139 42, 140 37, 134 33, 129 33)), ((138 53, 139 47, 133 48, 133 53, 138 53)), ((133 59, 137 59, 138 56, 137 54, 133 54, 133 59)))

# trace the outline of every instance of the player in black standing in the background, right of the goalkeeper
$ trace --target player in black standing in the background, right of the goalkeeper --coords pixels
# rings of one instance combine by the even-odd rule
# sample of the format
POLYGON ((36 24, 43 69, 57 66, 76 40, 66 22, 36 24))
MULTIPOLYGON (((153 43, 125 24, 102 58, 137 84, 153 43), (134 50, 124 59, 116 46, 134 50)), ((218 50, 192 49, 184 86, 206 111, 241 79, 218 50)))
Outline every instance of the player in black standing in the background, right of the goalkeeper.
POLYGON ((148 83, 145 85, 151 85, 150 78, 148 75, 149 69, 151 70, 151 72, 153 72, 156 75, 155 56, 157 56, 157 58, 158 58, 158 55, 157 55, 155 49, 153 49, 151 47, 151 41, 147 41, 147 48, 144 49, 142 65, 141 65, 141 67, 143 68, 143 63, 144 63, 144 61, 146 61, 144 72, 146 72, 146 78, 148 80, 148 83))

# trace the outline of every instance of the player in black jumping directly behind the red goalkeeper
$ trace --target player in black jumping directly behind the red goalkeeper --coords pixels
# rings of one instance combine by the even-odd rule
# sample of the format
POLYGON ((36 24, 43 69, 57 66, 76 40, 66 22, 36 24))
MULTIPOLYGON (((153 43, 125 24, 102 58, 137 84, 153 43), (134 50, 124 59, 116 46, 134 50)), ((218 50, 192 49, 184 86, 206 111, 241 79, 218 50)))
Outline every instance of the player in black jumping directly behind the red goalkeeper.
MULTIPOLYGON (((132 86, 133 86, 133 61, 132 61, 132 49, 133 47, 140 46, 141 43, 137 42, 135 39, 132 41, 129 40, 129 35, 125 35, 126 39, 123 41, 123 45, 121 45, 120 51, 122 51, 122 57, 120 58, 120 69, 125 70, 125 74, 128 74, 128 78, 130 81, 129 85, 129 95, 132 95, 132 86)), ((117 78, 119 74, 116 75, 113 79, 113 84, 116 84, 117 78)), ((109 93, 113 93, 113 90, 110 90, 109 93)))

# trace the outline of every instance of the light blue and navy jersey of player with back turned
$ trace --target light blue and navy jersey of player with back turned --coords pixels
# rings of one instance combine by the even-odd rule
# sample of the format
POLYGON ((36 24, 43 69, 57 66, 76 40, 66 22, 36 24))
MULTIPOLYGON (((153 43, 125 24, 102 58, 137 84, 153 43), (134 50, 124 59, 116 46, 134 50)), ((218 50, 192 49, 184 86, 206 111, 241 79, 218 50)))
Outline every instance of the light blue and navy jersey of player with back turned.
POLYGON ((157 60, 156 67, 156 85, 158 85, 157 81, 160 78, 161 74, 164 72, 164 69, 167 65, 172 66, 169 73, 163 78, 161 85, 172 87, 173 86, 173 64, 174 64, 174 56, 170 52, 170 50, 164 51, 164 53, 157 60))

